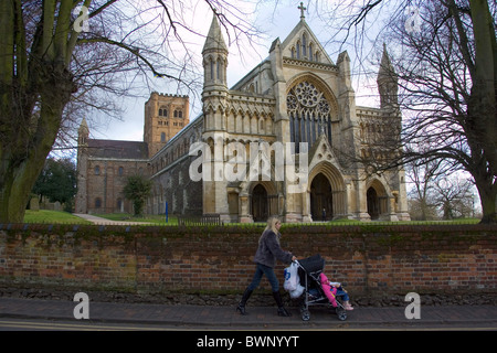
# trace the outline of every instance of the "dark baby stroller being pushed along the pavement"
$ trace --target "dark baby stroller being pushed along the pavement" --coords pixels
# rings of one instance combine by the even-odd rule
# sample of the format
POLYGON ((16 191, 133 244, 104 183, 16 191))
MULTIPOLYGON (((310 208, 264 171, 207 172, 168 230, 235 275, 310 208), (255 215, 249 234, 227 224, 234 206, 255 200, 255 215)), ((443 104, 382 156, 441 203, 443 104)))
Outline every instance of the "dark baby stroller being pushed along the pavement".
MULTIPOLYGON (((296 261, 298 265, 298 276, 300 278, 300 286, 304 287, 300 313, 302 320, 308 321, 310 319, 309 306, 328 306, 332 308, 328 298, 326 297, 319 275, 325 268, 325 259, 319 255, 314 255, 305 259, 296 261)), ((334 308, 339 320, 347 320, 347 311, 342 306, 340 296, 336 297, 337 307, 334 308)))

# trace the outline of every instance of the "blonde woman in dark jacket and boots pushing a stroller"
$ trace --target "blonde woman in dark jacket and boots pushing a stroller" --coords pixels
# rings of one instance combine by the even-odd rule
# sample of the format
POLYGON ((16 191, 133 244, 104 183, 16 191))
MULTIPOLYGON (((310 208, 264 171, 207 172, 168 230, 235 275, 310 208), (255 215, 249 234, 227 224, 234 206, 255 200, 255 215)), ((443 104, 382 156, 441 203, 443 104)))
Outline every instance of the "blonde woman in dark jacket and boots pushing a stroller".
POLYGON ((273 298, 278 306, 278 315, 292 315, 283 306, 283 300, 279 295, 279 282, 274 274, 274 267, 276 265, 276 259, 285 264, 289 264, 290 261, 295 261, 297 258, 292 253, 282 249, 279 245, 279 238, 282 237, 282 234, 279 233, 281 227, 282 222, 278 217, 269 217, 267 220, 267 226, 258 239, 257 252, 254 256, 254 263, 256 263, 254 278, 245 289, 242 300, 236 307, 236 310, 240 311, 242 315, 246 314, 246 301, 251 297, 254 289, 258 287, 263 275, 266 275, 269 280, 271 289, 273 290, 273 298))

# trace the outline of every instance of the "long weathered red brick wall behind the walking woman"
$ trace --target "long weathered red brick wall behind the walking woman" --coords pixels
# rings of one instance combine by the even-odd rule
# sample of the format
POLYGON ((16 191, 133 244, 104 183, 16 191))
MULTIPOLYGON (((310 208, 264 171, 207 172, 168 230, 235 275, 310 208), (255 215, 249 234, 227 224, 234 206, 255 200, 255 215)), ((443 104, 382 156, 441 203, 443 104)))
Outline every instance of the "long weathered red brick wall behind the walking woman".
MULTIPOLYGON (((22 225, 0 229, 0 284, 130 292, 239 292, 261 227, 220 231, 22 225)), ((355 295, 497 291, 497 226, 285 227, 282 246, 319 253, 355 295)), ((276 274, 283 281, 284 265, 276 274)), ((266 280, 262 281, 268 289, 266 280)))

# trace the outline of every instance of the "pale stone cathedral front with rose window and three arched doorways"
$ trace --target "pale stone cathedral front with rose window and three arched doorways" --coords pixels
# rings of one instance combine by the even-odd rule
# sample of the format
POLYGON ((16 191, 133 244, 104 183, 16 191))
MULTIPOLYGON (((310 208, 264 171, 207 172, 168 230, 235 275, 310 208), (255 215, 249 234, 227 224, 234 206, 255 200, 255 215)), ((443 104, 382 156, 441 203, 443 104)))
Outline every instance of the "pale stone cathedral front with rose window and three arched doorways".
MULTIPOLYGON (((304 14, 231 88, 215 17, 202 55, 202 114, 160 149, 148 148, 149 213, 167 204, 170 214, 220 214, 225 222, 410 220, 403 170, 374 174, 360 162, 381 156, 384 140, 400 133, 385 49, 380 108, 356 106, 348 53, 334 62, 304 14)), ((158 106, 151 109, 146 126, 160 116, 158 106)))

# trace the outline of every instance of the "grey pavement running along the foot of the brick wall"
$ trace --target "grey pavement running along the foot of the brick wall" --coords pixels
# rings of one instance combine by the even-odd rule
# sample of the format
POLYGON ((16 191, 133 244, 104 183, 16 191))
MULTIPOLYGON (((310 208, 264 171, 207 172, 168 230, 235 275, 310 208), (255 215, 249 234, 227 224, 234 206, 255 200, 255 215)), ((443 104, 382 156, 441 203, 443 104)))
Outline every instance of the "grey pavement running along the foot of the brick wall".
MULTIPOLYGON (((77 302, 62 300, 0 298, 0 318, 80 321, 73 311, 77 302)), ((106 323, 160 324, 179 329, 202 330, 322 330, 384 329, 405 327, 473 327, 497 330, 495 306, 421 307, 421 319, 408 320, 405 308, 356 308, 345 321, 325 307, 310 307, 310 320, 303 321, 297 308, 289 308, 290 318, 276 314, 276 308, 250 307, 242 317, 232 307, 166 306, 147 303, 88 303, 89 321, 106 323)), ((84 320, 83 320, 84 321, 84 320)))

